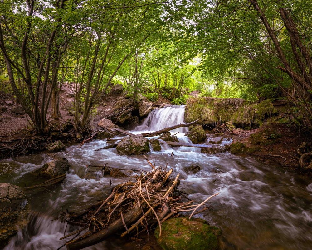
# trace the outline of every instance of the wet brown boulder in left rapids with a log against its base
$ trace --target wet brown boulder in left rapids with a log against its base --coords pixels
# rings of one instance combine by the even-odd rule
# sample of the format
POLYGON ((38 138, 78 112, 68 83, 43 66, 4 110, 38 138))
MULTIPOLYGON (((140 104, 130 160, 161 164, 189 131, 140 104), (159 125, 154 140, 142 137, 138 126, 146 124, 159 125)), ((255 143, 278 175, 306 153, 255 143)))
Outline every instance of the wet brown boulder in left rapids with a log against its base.
POLYGON ((70 164, 66 158, 56 159, 44 164, 41 168, 33 171, 33 174, 38 174, 46 178, 54 178, 61 174, 65 174, 70 168, 70 164))

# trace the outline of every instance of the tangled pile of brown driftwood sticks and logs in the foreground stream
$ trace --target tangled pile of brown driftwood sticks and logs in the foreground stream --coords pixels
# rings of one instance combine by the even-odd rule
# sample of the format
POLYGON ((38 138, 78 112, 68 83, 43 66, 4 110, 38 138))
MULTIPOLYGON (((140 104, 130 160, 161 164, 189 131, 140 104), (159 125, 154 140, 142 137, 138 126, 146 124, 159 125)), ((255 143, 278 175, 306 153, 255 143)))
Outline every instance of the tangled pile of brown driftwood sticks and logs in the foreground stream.
MULTIPOLYGON (((145 156, 144 156, 145 157, 145 156)), ((146 158, 146 157, 145 157, 146 158)), ((201 212, 197 209, 211 199, 194 205, 193 200, 183 202, 182 193, 178 191, 179 174, 171 178, 173 169, 156 167, 147 158, 151 171, 142 173, 126 183, 114 187, 111 194, 101 202, 74 215, 66 213, 66 220, 70 224, 79 225, 81 229, 72 232, 61 239, 74 236, 65 245, 67 249, 82 249, 119 233, 124 237, 130 233, 149 230, 153 225, 159 225, 159 234, 162 233, 161 223, 178 212, 201 212), (82 232, 84 232, 82 234, 82 232)))

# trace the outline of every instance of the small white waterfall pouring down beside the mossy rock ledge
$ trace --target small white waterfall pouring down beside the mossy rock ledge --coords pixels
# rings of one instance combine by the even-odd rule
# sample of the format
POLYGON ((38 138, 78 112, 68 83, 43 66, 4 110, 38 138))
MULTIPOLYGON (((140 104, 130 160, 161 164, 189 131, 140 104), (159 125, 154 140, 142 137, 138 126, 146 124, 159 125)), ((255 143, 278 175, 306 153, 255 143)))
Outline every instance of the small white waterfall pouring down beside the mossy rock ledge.
MULTIPOLYGON (((166 108, 156 108, 142 123, 135 128, 136 131, 157 131, 163 128, 171 127, 180 123, 184 123, 184 107, 185 105, 173 105, 166 108)), ((171 132, 185 133, 188 128, 177 128, 171 132)))

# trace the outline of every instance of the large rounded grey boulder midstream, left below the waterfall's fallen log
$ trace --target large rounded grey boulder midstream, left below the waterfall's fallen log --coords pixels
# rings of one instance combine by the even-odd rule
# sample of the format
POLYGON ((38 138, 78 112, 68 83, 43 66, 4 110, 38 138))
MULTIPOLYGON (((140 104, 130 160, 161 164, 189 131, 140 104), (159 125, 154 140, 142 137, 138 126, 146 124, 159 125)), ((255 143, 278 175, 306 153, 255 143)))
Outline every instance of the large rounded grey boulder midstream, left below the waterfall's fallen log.
POLYGON ((116 147, 121 155, 138 155, 149 152, 149 140, 142 135, 127 136, 116 147))

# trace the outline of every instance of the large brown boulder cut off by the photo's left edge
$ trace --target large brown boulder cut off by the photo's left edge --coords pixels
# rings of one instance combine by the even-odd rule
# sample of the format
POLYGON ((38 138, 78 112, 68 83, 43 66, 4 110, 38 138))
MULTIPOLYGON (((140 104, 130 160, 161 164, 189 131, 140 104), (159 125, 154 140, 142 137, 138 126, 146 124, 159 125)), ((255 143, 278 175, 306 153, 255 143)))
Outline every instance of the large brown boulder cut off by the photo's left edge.
POLYGON ((27 197, 22 189, 10 183, 0 183, 0 248, 27 224, 27 197))

